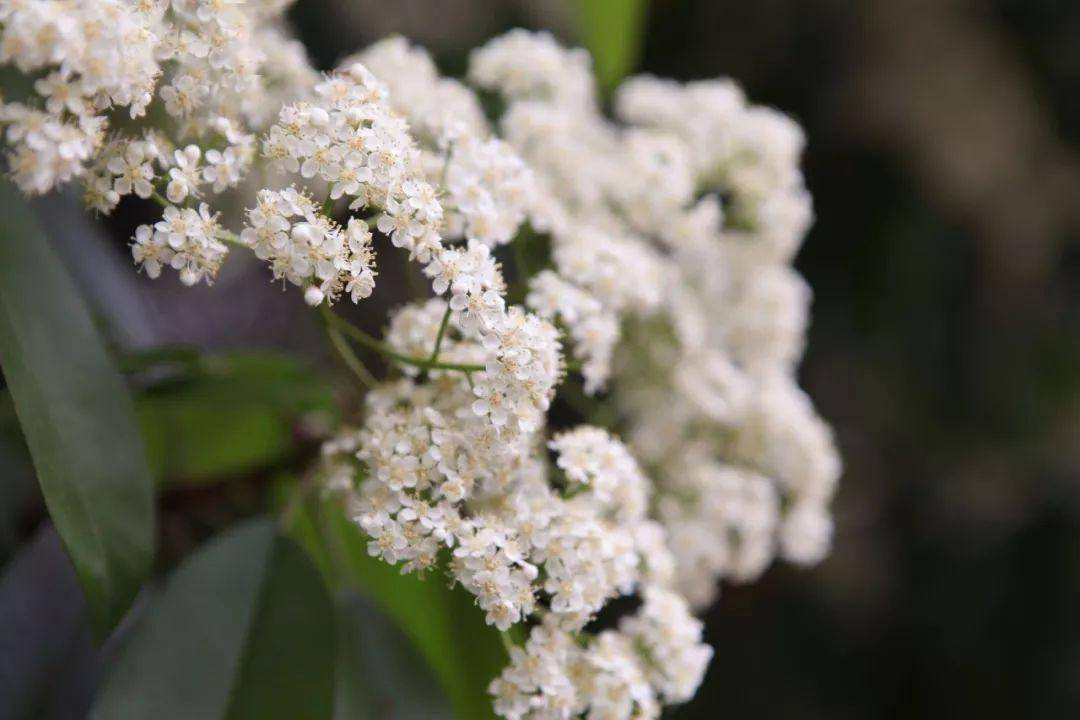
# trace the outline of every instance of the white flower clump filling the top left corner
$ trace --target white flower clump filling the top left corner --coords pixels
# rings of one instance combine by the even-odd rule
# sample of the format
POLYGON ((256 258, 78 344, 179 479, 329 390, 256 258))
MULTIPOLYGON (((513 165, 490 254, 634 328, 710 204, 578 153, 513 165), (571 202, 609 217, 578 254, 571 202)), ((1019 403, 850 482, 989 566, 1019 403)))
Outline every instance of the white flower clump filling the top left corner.
POLYGON ((159 180, 174 204, 203 184, 234 186, 253 159, 252 130, 313 76, 279 29, 287 4, 0 2, 0 63, 38 78, 30 98, 0 106, 15 182, 44 193, 81 177, 90 204, 106 213, 132 191, 149 196, 159 180), (170 147, 107 136, 110 111, 140 118, 154 103, 172 120, 170 147), (185 141, 198 154, 174 157, 171 146, 185 141))

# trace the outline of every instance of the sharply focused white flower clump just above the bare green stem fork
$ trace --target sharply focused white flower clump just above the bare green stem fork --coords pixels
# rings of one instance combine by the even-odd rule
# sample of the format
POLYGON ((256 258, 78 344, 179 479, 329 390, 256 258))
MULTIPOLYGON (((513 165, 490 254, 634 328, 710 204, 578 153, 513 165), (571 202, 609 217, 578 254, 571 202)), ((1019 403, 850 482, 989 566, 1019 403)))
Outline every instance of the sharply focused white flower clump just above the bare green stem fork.
POLYGON ((349 209, 370 210, 411 256, 427 261, 441 249, 435 189, 419 172, 416 144, 386 87, 364 66, 318 83, 310 101, 283 107, 262 152, 301 189, 260 190, 240 241, 271 263, 275 279, 306 288, 309 304, 334 302, 342 291, 357 302, 375 287, 368 223, 351 217, 342 229, 330 217, 341 198, 349 209), (323 190, 325 203, 316 204, 308 186, 323 190))

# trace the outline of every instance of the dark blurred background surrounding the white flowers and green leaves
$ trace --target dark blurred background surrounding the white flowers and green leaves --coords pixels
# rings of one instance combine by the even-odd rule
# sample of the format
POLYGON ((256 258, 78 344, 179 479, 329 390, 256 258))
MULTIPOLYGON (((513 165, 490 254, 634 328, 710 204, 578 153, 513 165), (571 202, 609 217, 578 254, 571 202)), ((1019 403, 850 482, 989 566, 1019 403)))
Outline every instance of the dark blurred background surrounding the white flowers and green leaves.
MULTIPOLYGON (((583 40, 558 0, 300 0, 293 19, 324 68, 391 32, 450 73, 514 26, 583 40)), ((846 464, 832 556, 724 588, 706 619, 716 657, 672 717, 1077 717, 1080 3, 657 0, 638 25, 636 71, 732 77, 806 128, 818 220, 797 262, 814 290, 801 381, 846 464)), ((39 209, 119 345, 327 362, 261 269, 227 268, 212 291, 151 289, 77 204, 39 209)), ((116 218, 117 236, 139 212, 116 218)), ((163 562, 310 457, 302 429, 288 439, 295 452, 258 472, 168 491, 163 562)), ((65 679, 41 716, 79 717, 100 655, 87 638, 49 648, 56 617, 82 622, 78 589, 9 445, 0 502, 18 512, 0 527, 0 604, 30 629, 42 597, 72 608, 21 652, 0 638, 0 662, 52 653, 65 679)))

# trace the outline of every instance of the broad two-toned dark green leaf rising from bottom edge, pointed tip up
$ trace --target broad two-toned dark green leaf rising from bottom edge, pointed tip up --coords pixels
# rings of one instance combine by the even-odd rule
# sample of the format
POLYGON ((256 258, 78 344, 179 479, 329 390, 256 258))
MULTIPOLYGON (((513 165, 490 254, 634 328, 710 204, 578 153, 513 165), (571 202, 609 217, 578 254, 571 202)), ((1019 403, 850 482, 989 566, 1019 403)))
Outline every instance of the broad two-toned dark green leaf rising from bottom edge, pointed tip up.
POLYGON ((252 520, 173 573, 91 717, 329 720, 337 652, 319 571, 272 521, 252 520))

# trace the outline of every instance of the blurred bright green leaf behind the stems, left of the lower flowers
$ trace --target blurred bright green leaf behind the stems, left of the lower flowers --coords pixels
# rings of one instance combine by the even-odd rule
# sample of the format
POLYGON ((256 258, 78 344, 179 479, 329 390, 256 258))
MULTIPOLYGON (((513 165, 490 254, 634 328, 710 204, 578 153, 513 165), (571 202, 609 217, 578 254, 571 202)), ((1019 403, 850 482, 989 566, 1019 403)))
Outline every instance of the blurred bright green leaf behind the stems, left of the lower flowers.
MULTIPOLYGON (((141 357, 130 363, 143 365, 141 357)), ((230 353, 188 358, 185 366, 177 382, 136 398, 150 465, 170 483, 272 466, 299 450, 297 427, 337 422, 329 384, 288 357, 230 353)))

